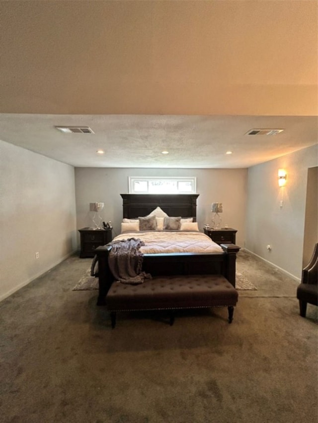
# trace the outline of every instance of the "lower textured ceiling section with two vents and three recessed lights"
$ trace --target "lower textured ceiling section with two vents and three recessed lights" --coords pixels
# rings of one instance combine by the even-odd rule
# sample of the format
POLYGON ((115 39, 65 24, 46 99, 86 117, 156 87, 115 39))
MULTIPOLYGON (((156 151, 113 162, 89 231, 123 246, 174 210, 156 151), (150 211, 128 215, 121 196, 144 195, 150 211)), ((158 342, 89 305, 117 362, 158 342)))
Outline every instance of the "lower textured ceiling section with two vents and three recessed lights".
POLYGON ((9 114, 0 115, 0 127, 2 140, 76 167, 246 168, 317 142, 315 117, 9 114), (94 134, 54 125, 86 125, 94 134), (246 135, 268 127, 285 130, 246 135))

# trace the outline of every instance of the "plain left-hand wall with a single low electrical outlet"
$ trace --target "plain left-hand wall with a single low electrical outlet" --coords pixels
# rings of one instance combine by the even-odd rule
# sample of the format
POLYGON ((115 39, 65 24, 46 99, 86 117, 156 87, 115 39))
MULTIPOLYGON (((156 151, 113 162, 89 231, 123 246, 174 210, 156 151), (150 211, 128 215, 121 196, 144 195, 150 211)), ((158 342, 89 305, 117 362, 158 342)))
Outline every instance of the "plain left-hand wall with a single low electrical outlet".
POLYGON ((76 249, 74 185, 72 166, 0 141, 0 300, 76 249))

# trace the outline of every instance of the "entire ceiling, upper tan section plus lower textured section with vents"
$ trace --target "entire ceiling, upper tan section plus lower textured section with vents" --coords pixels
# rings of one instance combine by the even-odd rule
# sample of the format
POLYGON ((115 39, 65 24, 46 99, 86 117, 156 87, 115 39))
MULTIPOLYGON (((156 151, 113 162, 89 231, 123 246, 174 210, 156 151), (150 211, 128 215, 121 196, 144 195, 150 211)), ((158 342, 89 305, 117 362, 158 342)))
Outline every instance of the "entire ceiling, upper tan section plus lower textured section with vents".
POLYGON ((0 139, 79 167, 249 167, 313 145, 317 10, 310 0, 1 1, 0 139), (252 128, 285 130, 244 135, 252 128))

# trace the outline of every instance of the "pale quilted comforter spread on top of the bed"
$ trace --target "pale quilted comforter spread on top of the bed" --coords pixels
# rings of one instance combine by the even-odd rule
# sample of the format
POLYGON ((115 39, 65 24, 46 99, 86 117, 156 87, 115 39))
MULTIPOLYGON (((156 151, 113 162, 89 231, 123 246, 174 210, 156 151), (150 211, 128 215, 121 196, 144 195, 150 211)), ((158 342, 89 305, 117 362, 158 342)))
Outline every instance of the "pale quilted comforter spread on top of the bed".
POLYGON ((185 231, 139 231, 125 232, 113 241, 138 238, 145 242, 140 248, 143 254, 166 254, 175 252, 220 253, 223 249, 202 232, 185 231))

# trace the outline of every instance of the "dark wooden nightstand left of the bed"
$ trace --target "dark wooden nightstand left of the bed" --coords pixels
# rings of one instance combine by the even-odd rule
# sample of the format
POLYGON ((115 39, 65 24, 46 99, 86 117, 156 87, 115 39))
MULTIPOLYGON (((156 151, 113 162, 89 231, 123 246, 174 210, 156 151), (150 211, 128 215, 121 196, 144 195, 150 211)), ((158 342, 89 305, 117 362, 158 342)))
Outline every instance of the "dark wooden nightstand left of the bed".
POLYGON ((80 253, 79 257, 94 257, 95 248, 106 245, 112 240, 111 229, 79 229, 80 233, 80 253))

